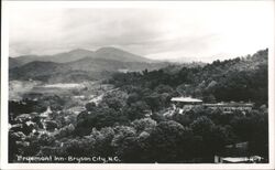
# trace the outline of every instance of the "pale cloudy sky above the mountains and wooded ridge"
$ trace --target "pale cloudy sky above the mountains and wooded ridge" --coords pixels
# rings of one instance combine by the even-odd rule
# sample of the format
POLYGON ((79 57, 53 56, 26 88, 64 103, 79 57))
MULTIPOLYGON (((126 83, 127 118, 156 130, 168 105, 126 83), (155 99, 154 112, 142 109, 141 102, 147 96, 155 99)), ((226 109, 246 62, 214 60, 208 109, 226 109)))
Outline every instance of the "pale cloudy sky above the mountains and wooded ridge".
POLYGON ((95 51, 102 46, 161 60, 212 61, 246 55, 268 47, 273 4, 184 1, 165 8, 10 6, 10 55, 54 54, 77 47, 95 51))

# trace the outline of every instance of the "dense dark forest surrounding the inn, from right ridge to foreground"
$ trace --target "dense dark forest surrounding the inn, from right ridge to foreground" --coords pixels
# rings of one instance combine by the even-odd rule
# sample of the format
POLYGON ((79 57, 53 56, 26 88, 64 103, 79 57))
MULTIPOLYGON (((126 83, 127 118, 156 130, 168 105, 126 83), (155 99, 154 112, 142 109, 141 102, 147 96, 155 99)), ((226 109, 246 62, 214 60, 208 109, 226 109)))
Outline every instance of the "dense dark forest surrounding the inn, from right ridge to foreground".
POLYGON ((267 53, 263 50, 206 65, 117 73, 105 81, 114 89, 99 104, 87 103, 78 115, 64 111, 68 100, 63 96, 11 100, 10 124, 22 126, 9 132, 9 160, 18 162, 21 155, 118 157, 118 162, 125 163, 213 162, 226 146, 245 141, 246 156, 261 156, 268 162, 267 53), (175 96, 255 105, 251 111, 232 114, 199 105, 167 116, 175 96), (47 106, 52 113, 43 126, 38 113, 47 106), (19 123, 15 119, 22 110, 30 115, 19 123), (48 132, 33 130, 43 128, 48 132))

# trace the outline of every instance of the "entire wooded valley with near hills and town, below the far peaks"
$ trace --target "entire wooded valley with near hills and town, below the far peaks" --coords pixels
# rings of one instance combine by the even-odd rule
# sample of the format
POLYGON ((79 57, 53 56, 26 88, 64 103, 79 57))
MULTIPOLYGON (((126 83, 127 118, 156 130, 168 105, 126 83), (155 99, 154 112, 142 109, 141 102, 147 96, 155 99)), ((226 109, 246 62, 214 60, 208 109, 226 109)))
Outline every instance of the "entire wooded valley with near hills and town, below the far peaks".
POLYGON ((267 50, 182 65, 125 54, 128 62, 82 57, 11 68, 9 161, 113 156, 123 163, 212 163, 235 156, 228 146, 248 144, 245 157, 258 158, 250 163, 268 162, 267 50), (204 104, 173 109, 172 98, 184 96, 204 104), (205 107, 223 102, 253 105, 205 107))

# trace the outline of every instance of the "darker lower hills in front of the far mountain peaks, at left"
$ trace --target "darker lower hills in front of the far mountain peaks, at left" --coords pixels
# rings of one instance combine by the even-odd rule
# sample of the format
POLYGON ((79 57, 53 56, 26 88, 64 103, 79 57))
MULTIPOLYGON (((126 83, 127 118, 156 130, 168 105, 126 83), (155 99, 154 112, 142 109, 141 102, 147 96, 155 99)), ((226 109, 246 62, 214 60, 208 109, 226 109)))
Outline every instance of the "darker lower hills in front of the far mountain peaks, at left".
POLYGON ((69 63, 31 62, 20 67, 11 68, 10 79, 35 79, 45 82, 94 81, 110 77, 117 72, 139 72, 167 66, 168 63, 120 62, 116 60, 85 57, 69 63))

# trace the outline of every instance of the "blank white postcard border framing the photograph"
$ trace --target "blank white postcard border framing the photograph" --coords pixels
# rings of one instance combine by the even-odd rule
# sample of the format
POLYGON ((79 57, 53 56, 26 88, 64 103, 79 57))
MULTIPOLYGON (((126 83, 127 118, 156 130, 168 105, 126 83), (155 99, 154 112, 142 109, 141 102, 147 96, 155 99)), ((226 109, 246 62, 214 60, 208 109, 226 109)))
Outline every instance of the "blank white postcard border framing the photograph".
MULTIPOLYGON (((201 1, 197 1, 198 3, 201 1)), ((223 1, 216 1, 222 3, 223 1)), ((237 2, 237 1, 234 1, 237 2)), ((275 9, 275 1, 268 0, 275 9)), ((2 1, 2 54, 1 54, 1 169, 274 169, 274 32, 268 40, 268 129, 270 129, 270 163, 260 164, 145 164, 145 163, 8 163, 8 59, 9 59, 9 8, 177 8, 183 1, 2 1)), ((233 12, 233 11, 232 11, 233 12)), ((257 12, 257 11, 255 11, 257 12)), ((274 12, 274 10, 273 10, 274 12)), ((275 30, 274 19, 271 21, 275 30)), ((252 40, 253 41, 253 40, 252 40)))

